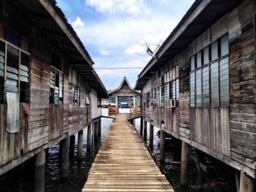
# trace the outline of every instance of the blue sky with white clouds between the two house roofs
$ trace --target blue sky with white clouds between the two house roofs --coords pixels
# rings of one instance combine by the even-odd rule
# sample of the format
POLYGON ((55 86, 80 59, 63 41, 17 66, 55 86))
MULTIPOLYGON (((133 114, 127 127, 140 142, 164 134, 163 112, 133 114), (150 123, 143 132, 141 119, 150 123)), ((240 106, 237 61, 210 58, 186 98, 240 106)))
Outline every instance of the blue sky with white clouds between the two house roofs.
MULTIPOLYGON (((194 0, 57 0, 94 61, 94 68, 145 67, 194 0)), ((95 69, 107 90, 124 76, 132 87, 143 69, 95 69)))

